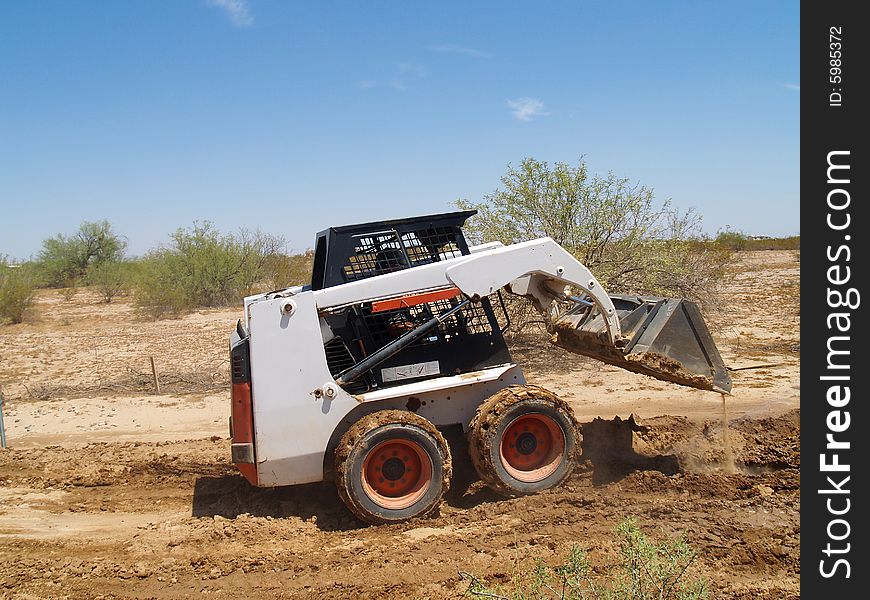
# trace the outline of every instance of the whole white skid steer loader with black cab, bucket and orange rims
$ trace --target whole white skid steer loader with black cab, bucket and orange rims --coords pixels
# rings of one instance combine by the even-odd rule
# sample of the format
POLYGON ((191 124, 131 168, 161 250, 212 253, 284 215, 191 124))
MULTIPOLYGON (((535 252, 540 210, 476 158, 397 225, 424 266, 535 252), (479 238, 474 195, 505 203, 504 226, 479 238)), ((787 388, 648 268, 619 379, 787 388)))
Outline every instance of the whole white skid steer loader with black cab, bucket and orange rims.
POLYGON ((502 494, 564 481, 579 426, 513 362, 504 293, 528 297, 572 352, 730 390, 693 303, 610 297, 550 238, 469 247, 473 214, 332 227, 317 235, 310 285, 245 299, 230 337, 230 430, 251 484, 333 479, 363 521, 423 516, 450 485, 451 427, 502 494))

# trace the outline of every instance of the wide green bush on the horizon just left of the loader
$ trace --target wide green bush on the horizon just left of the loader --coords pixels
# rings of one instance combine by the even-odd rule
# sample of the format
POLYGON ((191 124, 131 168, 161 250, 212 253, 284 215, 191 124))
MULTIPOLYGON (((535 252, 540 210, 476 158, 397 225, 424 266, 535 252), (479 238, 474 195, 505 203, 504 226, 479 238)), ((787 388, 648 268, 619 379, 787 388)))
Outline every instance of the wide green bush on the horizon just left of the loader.
POLYGON ((194 223, 149 253, 139 267, 136 302, 152 316, 197 307, 226 306, 268 287, 269 261, 284 240, 260 231, 222 234, 212 223, 194 223))

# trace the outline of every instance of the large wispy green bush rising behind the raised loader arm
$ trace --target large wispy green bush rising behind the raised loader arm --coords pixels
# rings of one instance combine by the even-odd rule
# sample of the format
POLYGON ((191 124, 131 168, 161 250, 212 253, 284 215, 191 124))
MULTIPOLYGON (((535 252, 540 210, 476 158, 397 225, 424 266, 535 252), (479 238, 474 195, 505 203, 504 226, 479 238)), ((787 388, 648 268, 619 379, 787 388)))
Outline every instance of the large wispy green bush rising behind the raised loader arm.
MULTIPOLYGON (((589 175, 576 166, 524 159, 508 166, 501 188, 476 209, 466 232, 471 242, 505 244, 553 238, 585 264, 611 294, 678 296, 709 306, 731 259, 731 250, 705 244, 701 217, 658 202, 650 188, 620 178, 589 175)), ((517 330, 540 317, 512 303, 517 330), (529 319, 532 319, 531 321, 529 319)))

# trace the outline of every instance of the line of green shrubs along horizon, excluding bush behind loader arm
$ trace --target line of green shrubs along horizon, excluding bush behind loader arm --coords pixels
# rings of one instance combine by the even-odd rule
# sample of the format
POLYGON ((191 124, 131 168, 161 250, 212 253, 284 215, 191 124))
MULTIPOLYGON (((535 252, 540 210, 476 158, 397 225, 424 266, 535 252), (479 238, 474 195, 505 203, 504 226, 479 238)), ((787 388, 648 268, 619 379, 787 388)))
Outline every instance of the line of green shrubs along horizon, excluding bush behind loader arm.
MULTIPOLYGON (((729 229, 694 244, 699 251, 799 250, 800 237, 758 238, 729 229)), ((132 295, 143 314, 155 318, 232 306, 246 295, 308 283, 313 262, 310 250, 288 253, 282 237, 222 233, 209 222, 176 230, 168 244, 139 258, 127 257, 126 247, 108 221, 99 221, 44 240, 32 261, 11 266, 0 255, 0 322, 21 322, 38 288, 57 288, 71 299, 88 286, 106 303, 132 295)))

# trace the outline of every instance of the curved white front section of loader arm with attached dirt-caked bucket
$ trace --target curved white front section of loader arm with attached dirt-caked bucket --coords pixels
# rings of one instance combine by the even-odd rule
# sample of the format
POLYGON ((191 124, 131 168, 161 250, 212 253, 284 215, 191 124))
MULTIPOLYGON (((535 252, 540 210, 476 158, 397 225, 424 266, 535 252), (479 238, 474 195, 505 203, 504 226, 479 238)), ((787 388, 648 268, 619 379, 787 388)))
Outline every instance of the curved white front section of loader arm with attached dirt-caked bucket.
POLYGON ((547 316, 553 343, 575 354, 679 385, 731 391, 727 367, 694 302, 611 297, 550 238, 473 256, 449 267, 447 278, 471 296, 507 287, 530 298, 547 316), (568 296, 568 285, 586 297, 568 296))

